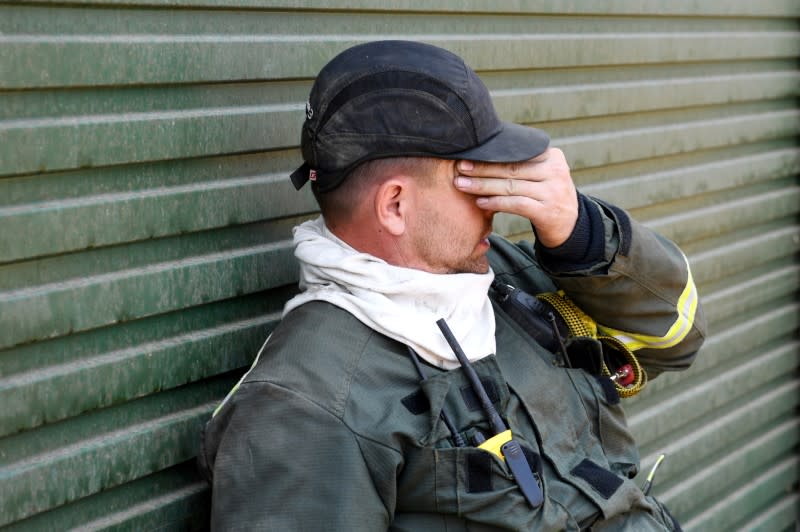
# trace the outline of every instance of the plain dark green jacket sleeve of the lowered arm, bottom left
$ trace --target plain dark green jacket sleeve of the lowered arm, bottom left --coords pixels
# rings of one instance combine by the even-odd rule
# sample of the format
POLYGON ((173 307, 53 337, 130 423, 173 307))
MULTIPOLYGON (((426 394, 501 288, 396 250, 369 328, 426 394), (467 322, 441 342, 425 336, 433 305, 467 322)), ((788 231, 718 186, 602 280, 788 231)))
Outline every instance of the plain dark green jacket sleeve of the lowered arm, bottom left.
POLYGON ((206 426, 212 530, 386 530, 360 442, 300 394, 244 383, 206 426))

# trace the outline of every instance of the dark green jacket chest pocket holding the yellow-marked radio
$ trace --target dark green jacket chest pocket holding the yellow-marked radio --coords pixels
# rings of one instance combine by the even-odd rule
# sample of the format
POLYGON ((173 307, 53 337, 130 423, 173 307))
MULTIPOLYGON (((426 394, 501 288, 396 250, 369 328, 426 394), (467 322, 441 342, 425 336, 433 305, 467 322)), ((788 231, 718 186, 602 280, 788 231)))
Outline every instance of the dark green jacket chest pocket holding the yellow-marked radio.
MULTIPOLYGON (((503 416, 509 401, 516 401, 510 395, 495 357, 486 357, 473 367, 503 416)), ((461 370, 429 375, 420 386, 421 392, 404 403, 407 408, 415 408, 418 415, 428 416, 429 427, 427 432, 419 434, 417 445, 406 453, 398 477, 398 513, 450 514, 487 529, 576 529, 565 520, 564 513, 547 500, 546 492, 544 504, 532 508, 506 462, 477 448, 484 438, 493 434, 480 401, 461 370), (428 408, 421 412, 425 402, 428 408), (464 440, 464 446, 456 446, 455 438, 441 418, 443 410, 464 440)), ((541 485, 541 459, 535 436, 523 434, 514 426, 513 419, 503 417, 545 491, 546 486, 541 485)))

